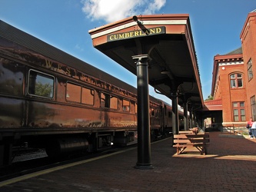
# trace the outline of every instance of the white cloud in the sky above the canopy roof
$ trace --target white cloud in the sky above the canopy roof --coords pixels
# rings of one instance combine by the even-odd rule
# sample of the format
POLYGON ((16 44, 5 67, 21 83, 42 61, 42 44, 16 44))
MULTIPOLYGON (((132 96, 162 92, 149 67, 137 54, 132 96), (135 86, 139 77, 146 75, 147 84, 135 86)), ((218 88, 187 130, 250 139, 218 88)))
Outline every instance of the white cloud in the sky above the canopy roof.
POLYGON ((166 0, 81 0, 82 11, 91 18, 116 22, 132 15, 150 15, 160 10, 166 0))

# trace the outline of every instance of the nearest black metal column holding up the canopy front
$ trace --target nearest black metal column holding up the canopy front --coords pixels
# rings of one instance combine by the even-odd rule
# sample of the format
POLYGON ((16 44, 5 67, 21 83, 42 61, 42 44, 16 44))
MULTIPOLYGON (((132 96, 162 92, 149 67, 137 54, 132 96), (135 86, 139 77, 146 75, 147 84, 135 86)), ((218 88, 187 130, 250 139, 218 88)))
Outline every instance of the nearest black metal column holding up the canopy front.
POLYGON ((138 97, 138 162, 135 168, 151 169, 151 141, 149 125, 148 55, 135 55, 137 64, 138 97))

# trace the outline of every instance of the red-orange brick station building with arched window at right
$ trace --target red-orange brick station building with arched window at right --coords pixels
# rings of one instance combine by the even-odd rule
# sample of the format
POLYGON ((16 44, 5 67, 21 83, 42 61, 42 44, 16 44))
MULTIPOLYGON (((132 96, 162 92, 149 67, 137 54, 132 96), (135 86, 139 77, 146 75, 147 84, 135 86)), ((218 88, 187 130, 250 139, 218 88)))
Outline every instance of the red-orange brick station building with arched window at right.
POLYGON ((222 125, 244 127, 256 121, 256 10, 241 30, 241 48, 214 56, 211 95, 222 100, 222 125))

